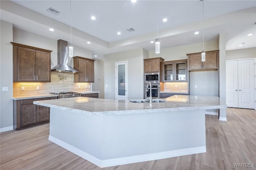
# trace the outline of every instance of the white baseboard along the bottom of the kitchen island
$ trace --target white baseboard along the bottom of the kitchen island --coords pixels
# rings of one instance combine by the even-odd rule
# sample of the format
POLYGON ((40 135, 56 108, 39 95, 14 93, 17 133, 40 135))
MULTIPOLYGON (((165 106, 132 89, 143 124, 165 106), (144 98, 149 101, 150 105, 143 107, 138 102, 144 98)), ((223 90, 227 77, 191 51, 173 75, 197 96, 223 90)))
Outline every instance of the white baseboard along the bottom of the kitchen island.
POLYGON ((164 159, 164 158, 171 158, 175 156, 183 156, 183 155, 189 155, 189 154, 197 154, 197 153, 203 153, 206 152, 206 146, 200 146, 200 147, 194 147, 194 148, 186 148, 186 149, 179 149, 179 150, 171 150, 166 152, 158 152, 154 154, 144 154, 144 155, 138 155, 138 156, 128 156, 128 157, 122 157, 122 158, 114 158, 114 159, 108 159, 108 160, 100 160, 70 144, 67 144, 66 142, 63 142, 62 140, 59 140, 53 136, 49 135, 49 140, 58 144, 59 146, 69 150, 70 152, 73 152, 74 154, 92 162, 93 164, 104 168, 108 166, 116 166, 116 165, 123 165, 123 164, 131 164, 136 162, 144 162, 144 161, 150 161, 150 160, 158 160, 158 159, 164 159))

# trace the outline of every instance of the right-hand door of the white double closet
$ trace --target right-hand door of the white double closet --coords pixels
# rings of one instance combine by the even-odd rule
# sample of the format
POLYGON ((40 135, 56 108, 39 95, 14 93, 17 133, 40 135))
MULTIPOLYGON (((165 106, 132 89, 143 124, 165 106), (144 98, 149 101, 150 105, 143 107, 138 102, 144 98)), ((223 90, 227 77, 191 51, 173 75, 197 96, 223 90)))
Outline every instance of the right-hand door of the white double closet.
POLYGON ((238 107, 254 109, 254 59, 238 61, 238 107))

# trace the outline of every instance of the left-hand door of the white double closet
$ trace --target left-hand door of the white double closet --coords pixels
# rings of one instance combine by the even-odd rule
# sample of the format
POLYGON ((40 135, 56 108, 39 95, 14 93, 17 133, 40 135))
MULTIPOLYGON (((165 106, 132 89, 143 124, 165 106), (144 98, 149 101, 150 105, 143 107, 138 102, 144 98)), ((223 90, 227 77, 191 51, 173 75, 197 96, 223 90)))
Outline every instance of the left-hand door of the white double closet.
POLYGON ((226 61, 226 105, 238 107, 238 62, 226 61))

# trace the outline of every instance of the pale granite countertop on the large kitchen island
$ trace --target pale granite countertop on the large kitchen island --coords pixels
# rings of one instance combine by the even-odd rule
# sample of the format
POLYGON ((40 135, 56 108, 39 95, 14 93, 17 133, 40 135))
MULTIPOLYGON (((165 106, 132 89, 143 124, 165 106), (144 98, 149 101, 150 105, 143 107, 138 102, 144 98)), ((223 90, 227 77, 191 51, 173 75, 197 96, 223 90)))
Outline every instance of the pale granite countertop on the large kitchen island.
POLYGON ((227 105, 215 96, 175 95, 161 103, 132 103, 129 100, 95 99, 73 97, 34 101, 36 105, 81 113, 85 115, 122 115, 168 111, 190 111, 204 109, 223 109, 227 105))

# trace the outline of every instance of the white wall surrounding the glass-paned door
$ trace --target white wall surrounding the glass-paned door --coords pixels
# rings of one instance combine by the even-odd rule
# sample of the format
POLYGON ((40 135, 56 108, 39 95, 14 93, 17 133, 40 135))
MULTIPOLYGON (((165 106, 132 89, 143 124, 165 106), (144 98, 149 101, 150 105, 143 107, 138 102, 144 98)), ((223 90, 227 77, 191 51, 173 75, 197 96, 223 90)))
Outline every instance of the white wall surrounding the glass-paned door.
POLYGON ((143 99, 143 49, 105 55, 105 99, 115 99, 115 63, 128 61, 128 99, 143 99))

